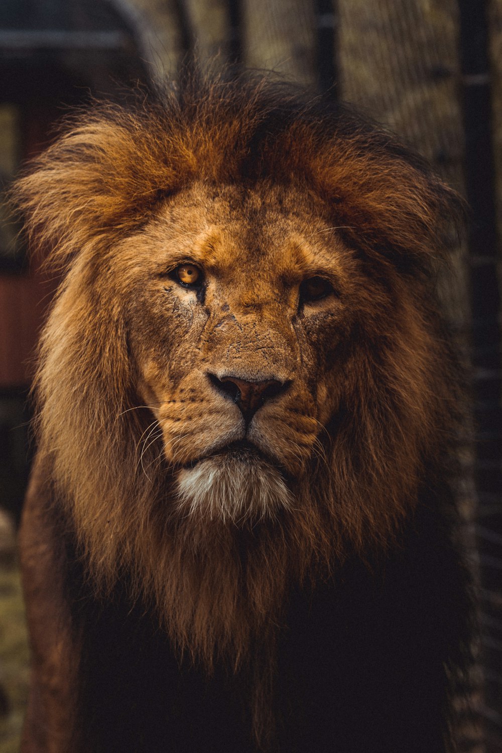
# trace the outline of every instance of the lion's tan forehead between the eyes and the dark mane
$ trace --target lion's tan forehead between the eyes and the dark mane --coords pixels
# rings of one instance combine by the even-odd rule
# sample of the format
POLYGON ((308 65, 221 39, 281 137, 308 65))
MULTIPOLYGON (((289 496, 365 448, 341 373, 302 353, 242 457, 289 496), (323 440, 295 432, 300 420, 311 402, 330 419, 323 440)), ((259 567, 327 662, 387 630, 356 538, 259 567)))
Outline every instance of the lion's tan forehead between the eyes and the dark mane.
POLYGON ((148 261, 184 256, 262 292, 267 281, 297 282, 311 270, 342 274, 342 242, 323 211, 294 187, 196 184, 167 200, 148 228, 148 261))

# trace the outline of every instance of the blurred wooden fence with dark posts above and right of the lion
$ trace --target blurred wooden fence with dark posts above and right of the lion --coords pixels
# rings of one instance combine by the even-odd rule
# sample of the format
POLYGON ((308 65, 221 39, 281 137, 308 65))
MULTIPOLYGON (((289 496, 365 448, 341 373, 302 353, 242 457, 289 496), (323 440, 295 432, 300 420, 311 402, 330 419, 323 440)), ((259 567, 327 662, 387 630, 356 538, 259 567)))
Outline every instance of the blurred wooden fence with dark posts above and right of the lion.
MULTIPOLYGON (((154 17, 154 0, 137 0, 154 17)), ((502 0, 172 0, 170 41, 150 37, 154 67, 175 71, 194 52, 275 69, 387 123, 431 160, 472 208, 438 281, 470 364, 475 441, 461 480, 479 566, 484 697, 464 749, 502 751, 502 0), (173 29, 179 29, 173 34, 173 29), (494 160, 495 155, 497 160, 494 160), (497 227, 498 225, 498 227, 497 227)))

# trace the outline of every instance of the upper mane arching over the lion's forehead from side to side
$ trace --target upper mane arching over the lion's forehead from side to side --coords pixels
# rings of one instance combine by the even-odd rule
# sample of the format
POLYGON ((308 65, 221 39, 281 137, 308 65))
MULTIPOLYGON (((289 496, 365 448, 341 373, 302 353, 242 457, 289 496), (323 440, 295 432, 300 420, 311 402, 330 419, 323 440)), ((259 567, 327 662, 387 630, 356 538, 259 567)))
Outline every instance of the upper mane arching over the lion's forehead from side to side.
POLYGON ((65 124, 30 165, 14 201, 35 244, 65 264, 87 242, 130 233, 157 201, 195 180, 270 178, 336 204, 345 233, 424 261, 463 204, 420 157, 342 105, 273 79, 188 79, 182 93, 96 105, 65 124))

